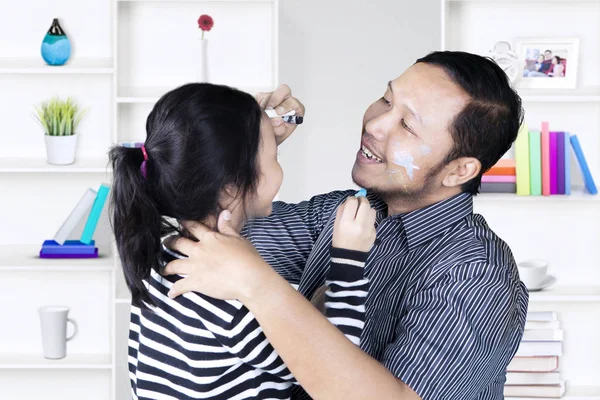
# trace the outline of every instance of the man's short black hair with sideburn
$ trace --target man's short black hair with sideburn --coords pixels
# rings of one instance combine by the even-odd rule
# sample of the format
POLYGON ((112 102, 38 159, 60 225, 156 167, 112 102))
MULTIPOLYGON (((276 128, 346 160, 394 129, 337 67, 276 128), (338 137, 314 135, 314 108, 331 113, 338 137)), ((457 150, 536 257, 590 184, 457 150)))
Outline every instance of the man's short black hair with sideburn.
POLYGON ((445 163, 460 157, 478 159, 479 175, 461 188, 477 194, 483 173, 498 162, 517 138, 524 115, 521 98, 506 73, 490 58, 460 51, 436 51, 416 63, 442 68, 471 97, 449 127, 454 146, 445 163))

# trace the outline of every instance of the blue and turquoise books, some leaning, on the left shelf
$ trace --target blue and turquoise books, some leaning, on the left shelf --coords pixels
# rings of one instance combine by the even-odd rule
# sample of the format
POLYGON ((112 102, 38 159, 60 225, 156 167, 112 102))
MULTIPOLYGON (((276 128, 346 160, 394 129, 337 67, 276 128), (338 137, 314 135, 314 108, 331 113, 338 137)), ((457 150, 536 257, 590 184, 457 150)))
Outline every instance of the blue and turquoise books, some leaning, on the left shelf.
POLYGON ((58 229, 52 240, 46 240, 40 250, 40 258, 95 258, 98 248, 93 240, 98 220, 108 198, 108 185, 102 184, 98 191, 89 188, 73 211, 58 229), (88 214, 89 211, 89 214, 88 214), (87 215, 79 240, 67 240, 73 229, 87 215))

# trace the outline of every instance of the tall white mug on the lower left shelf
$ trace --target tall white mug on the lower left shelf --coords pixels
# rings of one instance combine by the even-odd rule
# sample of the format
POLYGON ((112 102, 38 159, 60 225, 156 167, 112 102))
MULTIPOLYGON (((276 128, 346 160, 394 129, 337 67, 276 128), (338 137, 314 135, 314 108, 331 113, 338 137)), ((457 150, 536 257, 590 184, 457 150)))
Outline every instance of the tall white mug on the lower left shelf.
POLYGON ((44 357, 60 359, 67 355, 67 342, 77 335, 77 322, 67 318, 69 307, 46 306, 38 309, 42 326, 44 357), (67 322, 73 324, 73 334, 67 337, 67 322))

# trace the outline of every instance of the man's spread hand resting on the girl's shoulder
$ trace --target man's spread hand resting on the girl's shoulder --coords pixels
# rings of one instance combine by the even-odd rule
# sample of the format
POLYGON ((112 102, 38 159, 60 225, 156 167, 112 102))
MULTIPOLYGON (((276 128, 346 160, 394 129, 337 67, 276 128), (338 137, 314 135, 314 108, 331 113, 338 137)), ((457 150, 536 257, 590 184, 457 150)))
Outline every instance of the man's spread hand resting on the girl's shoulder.
POLYGON ((199 242, 176 237, 165 243, 188 256, 171 261, 163 271, 163 275, 187 275, 173 284, 169 297, 195 291, 217 299, 241 299, 253 288, 253 283, 274 273, 254 246, 232 228, 229 211, 219 216, 219 232, 199 223, 185 225, 199 242))

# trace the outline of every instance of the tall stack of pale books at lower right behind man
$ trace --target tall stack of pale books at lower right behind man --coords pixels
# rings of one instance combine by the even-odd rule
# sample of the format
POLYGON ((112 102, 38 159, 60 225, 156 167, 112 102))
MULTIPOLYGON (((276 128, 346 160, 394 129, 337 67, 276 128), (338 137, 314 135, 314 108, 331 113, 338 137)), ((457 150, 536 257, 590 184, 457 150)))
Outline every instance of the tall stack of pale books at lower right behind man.
POLYGON ((508 365, 504 396, 507 400, 560 398, 565 383, 560 379, 563 331, 554 311, 527 313, 525 332, 517 354, 508 365))

